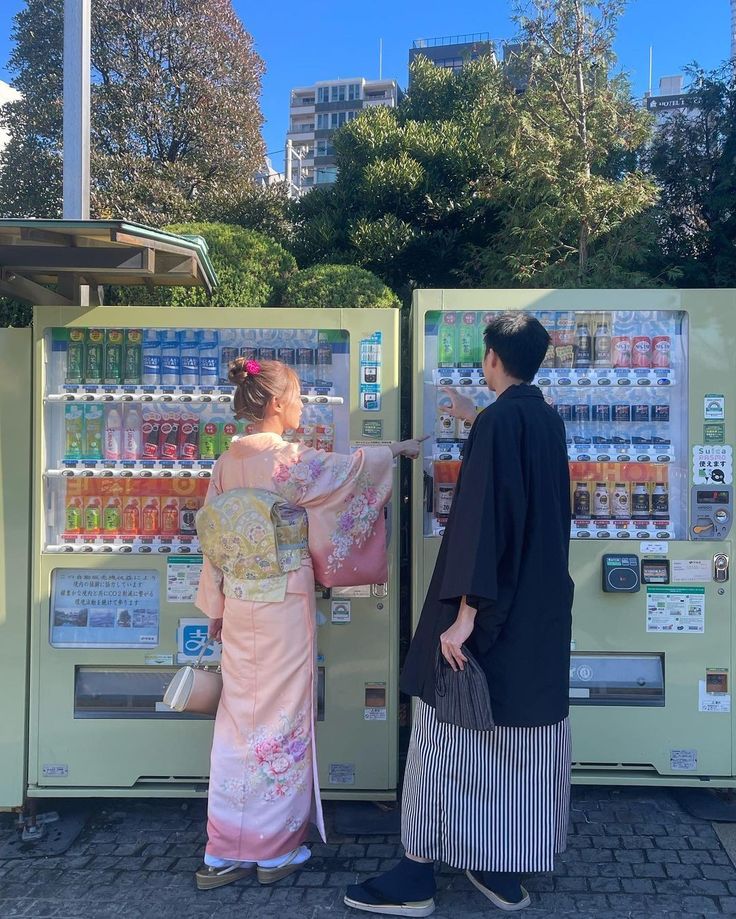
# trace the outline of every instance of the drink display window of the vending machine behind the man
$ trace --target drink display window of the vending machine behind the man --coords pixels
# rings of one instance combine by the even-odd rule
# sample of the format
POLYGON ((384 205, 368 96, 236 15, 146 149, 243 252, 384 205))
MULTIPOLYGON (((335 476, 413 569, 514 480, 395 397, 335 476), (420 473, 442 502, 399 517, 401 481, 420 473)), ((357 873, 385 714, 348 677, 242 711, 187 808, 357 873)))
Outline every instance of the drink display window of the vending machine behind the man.
MULTIPOLYGON (((424 325, 425 536, 444 531, 472 421, 482 411, 483 331, 494 311, 437 310, 424 325)), ((550 346, 534 383, 565 423, 575 539, 686 539, 687 314, 534 312, 550 346)))

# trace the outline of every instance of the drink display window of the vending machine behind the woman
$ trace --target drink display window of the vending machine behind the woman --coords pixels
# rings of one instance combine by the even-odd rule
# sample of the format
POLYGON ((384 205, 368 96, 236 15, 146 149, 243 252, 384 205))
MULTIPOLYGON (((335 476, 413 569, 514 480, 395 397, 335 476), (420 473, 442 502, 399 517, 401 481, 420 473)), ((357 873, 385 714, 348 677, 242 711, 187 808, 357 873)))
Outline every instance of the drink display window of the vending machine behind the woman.
POLYGON ((349 452, 345 330, 57 328, 45 345, 45 551, 198 552, 212 466, 253 430, 233 414, 236 357, 299 376, 287 439, 349 452))

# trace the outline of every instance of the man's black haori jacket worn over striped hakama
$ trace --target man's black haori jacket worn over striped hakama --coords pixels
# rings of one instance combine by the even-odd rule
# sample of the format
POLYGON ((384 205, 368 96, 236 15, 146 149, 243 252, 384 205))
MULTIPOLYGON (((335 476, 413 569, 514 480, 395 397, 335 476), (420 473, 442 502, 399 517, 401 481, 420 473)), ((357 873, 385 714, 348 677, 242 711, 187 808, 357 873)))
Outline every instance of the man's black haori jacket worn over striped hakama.
POLYGON ((439 637, 467 596, 478 610, 467 646, 485 672, 496 723, 534 727, 565 718, 569 543, 565 426, 536 386, 511 386, 470 432, 402 691, 434 705, 439 637))

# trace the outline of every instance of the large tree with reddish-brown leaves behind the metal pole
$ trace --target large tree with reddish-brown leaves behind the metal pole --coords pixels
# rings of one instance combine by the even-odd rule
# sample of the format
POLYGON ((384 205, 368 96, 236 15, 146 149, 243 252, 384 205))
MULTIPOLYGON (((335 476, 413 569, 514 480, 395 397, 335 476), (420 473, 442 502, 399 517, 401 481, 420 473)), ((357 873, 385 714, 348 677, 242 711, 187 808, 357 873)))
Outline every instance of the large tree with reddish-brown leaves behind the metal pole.
MULTIPOLYGON (((0 212, 59 216, 63 0, 26 0, 0 212)), ((231 0, 96 0, 92 213, 161 225, 232 206, 263 158, 263 63, 231 0)))

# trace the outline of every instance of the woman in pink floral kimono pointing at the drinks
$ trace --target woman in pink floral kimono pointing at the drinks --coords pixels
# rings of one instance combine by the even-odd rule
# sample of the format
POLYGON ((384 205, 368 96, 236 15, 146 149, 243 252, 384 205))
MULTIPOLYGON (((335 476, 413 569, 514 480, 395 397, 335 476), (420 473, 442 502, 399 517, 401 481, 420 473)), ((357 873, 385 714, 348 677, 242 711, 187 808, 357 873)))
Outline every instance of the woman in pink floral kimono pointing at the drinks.
MULTIPOLYGON (((256 871, 262 884, 278 881, 309 858, 302 843, 310 822, 324 839, 314 736, 312 559, 320 570, 350 566, 391 495, 394 457, 416 458, 420 451, 417 440, 352 456, 288 443, 282 435, 299 427, 302 413, 296 374, 278 361, 238 358, 230 380, 235 417, 252 422, 256 433, 234 440, 217 461, 207 500, 234 489, 260 491, 248 493, 255 497, 245 513, 218 534, 225 549, 238 546, 231 551, 236 563, 223 570, 205 557, 197 594, 197 606, 211 619, 210 636, 222 639, 223 682, 205 864, 196 875, 200 889, 256 871), (258 551, 279 499, 304 508, 309 521, 309 551, 281 577, 258 551)), ((385 572, 385 552, 380 554, 377 575, 385 572)))

